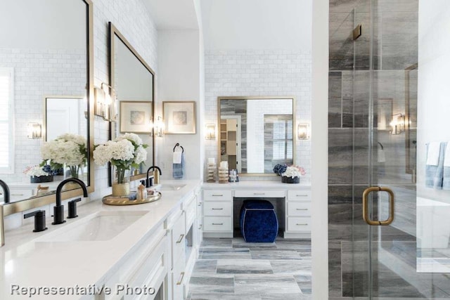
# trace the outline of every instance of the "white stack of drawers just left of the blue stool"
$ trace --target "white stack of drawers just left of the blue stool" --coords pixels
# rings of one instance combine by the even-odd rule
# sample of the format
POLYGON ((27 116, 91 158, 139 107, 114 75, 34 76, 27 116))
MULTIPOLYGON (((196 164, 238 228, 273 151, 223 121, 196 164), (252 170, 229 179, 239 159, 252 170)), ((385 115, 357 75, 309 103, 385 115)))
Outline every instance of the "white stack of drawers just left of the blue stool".
POLYGON ((208 237, 233 237, 231 190, 203 190, 203 234, 208 237))

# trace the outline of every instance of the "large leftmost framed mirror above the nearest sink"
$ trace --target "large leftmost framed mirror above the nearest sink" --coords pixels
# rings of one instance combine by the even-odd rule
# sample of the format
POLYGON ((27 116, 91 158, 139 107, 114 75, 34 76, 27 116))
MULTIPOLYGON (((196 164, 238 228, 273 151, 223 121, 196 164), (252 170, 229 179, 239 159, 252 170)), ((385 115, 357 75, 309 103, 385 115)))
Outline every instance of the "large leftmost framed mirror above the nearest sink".
MULTIPOLYGON (((53 105, 77 99, 77 134, 86 139, 84 182, 94 191, 91 150, 94 143, 94 38, 91 0, 4 1, 0 10, 0 178, 11 190, 11 202, 37 198, 54 201, 54 191, 64 176, 32 183, 24 174, 43 159, 41 147, 49 136, 46 124, 58 124, 61 116, 53 105), (25 9, 26 8, 26 9, 25 9), (57 96, 56 96, 57 95, 57 96), (42 100, 44 99, 44 101, 42 100), (7 107, 11 107, 8 111, 7 107), (50 110, 51 111, 50 111, 50 110), (8 113, 9 112, 9 113, 8 113), (41 132, 27 136, 34 124, 41 132), (37 193, 37 186, 46 188, 37 193)), ((56 128, 56 125, 54 126, 56 128)), ((60 127, 63 128, 63 127, 60 127)), ((53 134, 53 133, 51 133, 53 134)), ((63 193, 63 199, 81 195, 81 189, 63 193)), ((44 203, 42 202, 42 203, 44 203)))

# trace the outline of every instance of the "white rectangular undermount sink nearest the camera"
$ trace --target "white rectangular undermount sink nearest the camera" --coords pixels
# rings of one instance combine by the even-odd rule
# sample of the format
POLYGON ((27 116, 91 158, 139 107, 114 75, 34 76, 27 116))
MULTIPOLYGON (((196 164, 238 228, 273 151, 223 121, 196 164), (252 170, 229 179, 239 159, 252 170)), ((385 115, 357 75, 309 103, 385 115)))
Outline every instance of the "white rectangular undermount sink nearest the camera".
POLYGON ((39 237, 37 242, 111 240, 148 211, 99 211, 39 237))

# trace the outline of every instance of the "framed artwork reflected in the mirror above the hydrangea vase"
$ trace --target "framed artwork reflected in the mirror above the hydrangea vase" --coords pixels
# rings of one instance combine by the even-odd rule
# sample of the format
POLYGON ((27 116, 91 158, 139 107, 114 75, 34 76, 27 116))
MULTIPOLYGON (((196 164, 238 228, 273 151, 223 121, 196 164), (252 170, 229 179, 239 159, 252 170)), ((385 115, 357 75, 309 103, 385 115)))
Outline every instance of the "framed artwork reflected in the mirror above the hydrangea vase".
POLYGON ((120 101, 120 132, 151 133, 151 101, 120 101))

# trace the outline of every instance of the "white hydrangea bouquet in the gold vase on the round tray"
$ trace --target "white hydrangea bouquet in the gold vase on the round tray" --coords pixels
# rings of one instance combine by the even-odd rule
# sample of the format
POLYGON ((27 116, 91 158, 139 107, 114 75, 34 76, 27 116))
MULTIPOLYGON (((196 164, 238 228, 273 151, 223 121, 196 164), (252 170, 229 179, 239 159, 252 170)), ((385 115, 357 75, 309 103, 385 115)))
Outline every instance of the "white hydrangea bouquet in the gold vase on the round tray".
POLYGON ((131 167, 139 168, 139 164, 147 159, 147 147, 137 134, 124 133, 114 141, 96 145, 94 162, 99 166, 110 162, 117 169, 117 183, 125 183, 125 171, 131 167))

